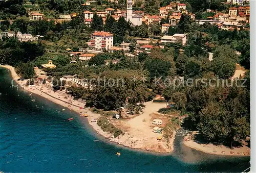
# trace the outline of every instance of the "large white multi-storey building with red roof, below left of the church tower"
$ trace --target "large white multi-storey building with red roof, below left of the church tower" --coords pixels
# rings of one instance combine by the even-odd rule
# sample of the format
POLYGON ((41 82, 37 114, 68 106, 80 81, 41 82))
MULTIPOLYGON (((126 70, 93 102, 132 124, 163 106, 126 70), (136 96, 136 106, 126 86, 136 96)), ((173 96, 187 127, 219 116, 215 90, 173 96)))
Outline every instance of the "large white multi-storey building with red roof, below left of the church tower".
POLYGON ((94 47, 95 50, 109 50, 110 47, 113 46, 113 37, 114 35, 108 32, 96 31, 91 34, 91 46, 94 47))

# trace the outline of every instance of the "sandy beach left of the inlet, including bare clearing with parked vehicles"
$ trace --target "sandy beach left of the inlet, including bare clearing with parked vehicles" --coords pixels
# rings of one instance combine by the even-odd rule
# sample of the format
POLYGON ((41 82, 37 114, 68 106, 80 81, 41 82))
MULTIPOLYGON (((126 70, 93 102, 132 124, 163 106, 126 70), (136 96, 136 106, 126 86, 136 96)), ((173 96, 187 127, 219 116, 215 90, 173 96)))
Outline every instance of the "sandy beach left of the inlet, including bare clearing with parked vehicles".
POLYGON ((152 116, 154 114, 152 115, 151 113, 157 112, 158 109, 165 107, 165 104, 155 104, 153 102, 148 102, 145 103, 144 112, 129 121, 120 120, 119 123, 115 121, 116 119, 111 120, 115 126, 124 131, 124 135, 120 135, 114 138, 112 134, 104 132, 97 125, 97 121, 92 122, 92 120, 98 119, 101 115, 91 112, 89 108, 84 108, 84 103, 73 100, 70 95, 63 92, 54 92, 50 84, 26 86, 27 80, 17 81, 17 79, 20 77, 15 72, 14 67, 9 65, 1 65, 0 67, 8 68, 11 72, 12 78, 16 81, 17 84, 23 87, 28 94, 34 93, 45 97, 56 104, 79 113, 80 116, 87 114, 88 122, 96 131, 96 133, 104 136, 105 138, 109 138, 111 142, 130 147, 131 149, 141 149, 150 152, 170 153, 173 151, 175 133, 168 143, 166 141, 157 140, 161 134, 153 133, 153 128, 155 126, 152 126, 152 116))

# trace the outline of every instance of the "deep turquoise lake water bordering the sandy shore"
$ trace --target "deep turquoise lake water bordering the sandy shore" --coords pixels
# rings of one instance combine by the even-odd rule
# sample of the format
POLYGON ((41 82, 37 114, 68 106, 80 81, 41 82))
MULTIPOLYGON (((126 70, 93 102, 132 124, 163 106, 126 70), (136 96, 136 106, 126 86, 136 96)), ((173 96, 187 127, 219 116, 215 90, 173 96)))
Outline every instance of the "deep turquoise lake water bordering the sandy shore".
POLYGON ((93 142, 99 137, 86 118, 11 87, 8 70, 3 68, 0 93, 0 170, 4 172, 241 172, 249 166, 249 157, 214 156, 190 149, 182 144, 181 133, 172 155, 93 142), (70 117, 75 120, 66 121, 70 117))

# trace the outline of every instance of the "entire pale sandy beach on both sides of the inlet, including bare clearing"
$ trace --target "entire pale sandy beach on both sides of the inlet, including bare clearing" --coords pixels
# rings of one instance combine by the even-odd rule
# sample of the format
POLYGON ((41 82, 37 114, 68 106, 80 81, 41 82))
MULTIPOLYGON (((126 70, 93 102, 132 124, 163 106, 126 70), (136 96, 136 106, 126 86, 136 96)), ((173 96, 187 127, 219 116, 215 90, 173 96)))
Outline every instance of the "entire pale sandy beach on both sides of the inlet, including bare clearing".
MULTIPOLYGON (((153 128, 155 127, 155 125, 152 125, 153 119, 163 120, 163 125, 161 125, 160 127, 164 127, 164 125, 169 120, 170 116, 157 113, 160 108, 165 107, 165 103, 146 102, 144 103, 145 108, 143 109, 143 113, 129 120, 109 119, 114 126, 124 131, 124 135, 119 135, 118 137, 114 138, 112 134, 104 132, 100 128, 100 126, 97 125, 97 121, 95 121, 95 119, 98 119, 101 115, 91 112, 89 108, 84 108, 85 103, 73 100, 70 95, 64 92, 54 92, 50 84, 25 86, 27 83, 26 80, 17 81, 19 77, 16 74, 14 67, 8 65, 1 65, 0 67, 8 68, 11 72, 12 78, 20 86, 22 86, 24 90, 28 92, 28 94, 34 93, 45 97, 56 104, 59 104, 63 107, 77 112, 78 114, 80 114, 80 116, 87 114, 88 122, 96 131, 96 133, 104 136, 105 138, 109 138, 111 142, 130 147, 131 149, 141 149, 156 153, 171 153, 174 150, 173 142, 175 139, 175 132, 173 133, 172 138, 170 138, 168 142, 166 140, 157 140, 157 138, 160 137, 161 134, 152 132, 153 128), (94 120, 95 122, 92 122, 92 120, 94 120)), ((215 146, 213 144, 198 144, 193 139, 186 141, 186 138, 188 138, 188 136, 184 138, 184 144, 186 146, 209 154, 241 156, 249 155, 250 153, 249 147, 246 146, 231 150, 225 146, 215 146)))

